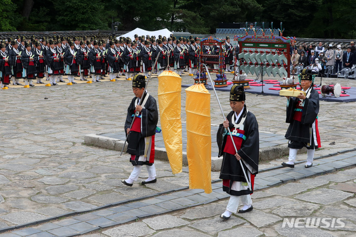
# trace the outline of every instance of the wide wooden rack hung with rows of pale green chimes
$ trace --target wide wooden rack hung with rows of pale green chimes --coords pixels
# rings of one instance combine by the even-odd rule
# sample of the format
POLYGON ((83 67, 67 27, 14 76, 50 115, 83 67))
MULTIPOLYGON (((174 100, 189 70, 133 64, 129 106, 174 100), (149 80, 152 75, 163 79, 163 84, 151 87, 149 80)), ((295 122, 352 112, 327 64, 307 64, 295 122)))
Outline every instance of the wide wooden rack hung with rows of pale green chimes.
MULTIPOLYGON (((281 23, 282 29, 282 23, 281 23)), ((279 29, 278 29, 279 30, 279 29)), ((241 80, 242 73, 256 74, 257 78, 261 76, 261 82, 263 82, 263 76, 267 74, 268 77, 290 77, 290 42, 293 38, 283 37, 284 30, 279 30, 280 36, 273 36, 274 29, 270 36, 265 36, 266 29, 263 27, 263 36, 256 37, 249 35, 246 30, 246 36, 235 36, 234 41, 238 41, 239 44, 239 76, 235 75, 234 84, 240 84, 244 87, 249 87, 248 80, 241 80), (237 77, 236 77, 237 76, 237 77)), ((296 85, 288 85, 293 87, 296 85)), ((282 85, 281 85, 282 87, 282 85)))

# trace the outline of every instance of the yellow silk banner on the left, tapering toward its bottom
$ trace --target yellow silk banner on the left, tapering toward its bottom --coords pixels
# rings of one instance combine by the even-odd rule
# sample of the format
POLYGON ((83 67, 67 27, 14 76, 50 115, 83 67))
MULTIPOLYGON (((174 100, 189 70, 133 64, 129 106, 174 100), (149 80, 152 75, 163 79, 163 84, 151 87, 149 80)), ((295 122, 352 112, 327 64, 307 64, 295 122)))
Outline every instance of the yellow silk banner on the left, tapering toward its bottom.
POLYGON ((172 173, 182 172, 182 134, 180 118, 181 78, 172 71, 164 71, 158 77, 158 104, 163 141, 172 173))

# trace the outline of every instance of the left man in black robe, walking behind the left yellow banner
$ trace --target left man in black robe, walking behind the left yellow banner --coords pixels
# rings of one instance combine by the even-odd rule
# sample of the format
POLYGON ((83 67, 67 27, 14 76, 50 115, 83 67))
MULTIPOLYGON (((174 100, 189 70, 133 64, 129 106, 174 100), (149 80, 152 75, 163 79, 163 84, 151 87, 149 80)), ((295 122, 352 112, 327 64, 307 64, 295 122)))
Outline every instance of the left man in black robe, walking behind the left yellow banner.
POLYGON ((130 162, 134 165, 134 170, 128 179, 121 181, 130 187, 137 181, 142 165, 146 165, 148 178, 141 181, 141 184, 157 182, 154 166, 154 137, 158 123, 158 109, 156 100, 148 94, 147 90, 145 91, 145 86, 144 76, 135 75, 133 79, 135 97, 128 108, 125 122, 128 136, 127 153, 131 155, 130 162), (139 105, 140 99, 142 102, 139 105), (132 123, 133 119, 134 123, 132 123))

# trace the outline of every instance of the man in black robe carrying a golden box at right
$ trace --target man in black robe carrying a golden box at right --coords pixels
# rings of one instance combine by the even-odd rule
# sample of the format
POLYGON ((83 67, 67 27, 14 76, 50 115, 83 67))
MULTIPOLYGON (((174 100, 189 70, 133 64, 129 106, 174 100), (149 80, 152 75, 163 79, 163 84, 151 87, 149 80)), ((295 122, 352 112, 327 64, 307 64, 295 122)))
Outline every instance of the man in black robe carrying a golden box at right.
POLYGON ((288 139, 289 157, 284 167, 294 168, 297 152, 307 148, 306 168, 312 167, 315 148, 320 148, 320 136, 317 124, 319 113, 319 94, 313 88, 313 76, 310 69, 304 69, 299 75, 302 91, 297 97, 287 97, 287 117, 289 123, 285 138, 288 139))

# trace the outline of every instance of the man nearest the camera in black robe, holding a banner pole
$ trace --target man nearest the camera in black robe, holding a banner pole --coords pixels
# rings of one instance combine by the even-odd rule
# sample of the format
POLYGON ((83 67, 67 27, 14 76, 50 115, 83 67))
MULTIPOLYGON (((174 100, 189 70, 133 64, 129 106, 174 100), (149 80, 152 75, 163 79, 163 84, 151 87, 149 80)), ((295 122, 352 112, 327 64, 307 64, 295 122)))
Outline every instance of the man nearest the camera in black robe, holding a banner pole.
POLYGON ((223 179, 223 191, 230 195, 225 212, 220 216, 227 220, 236 213, 239 201, 243 207, 239 213, 253 209, 250 195, 253 193, 255 175, 259 164, 259 130, 256 117, 248 111, 245 104, 245 91, 241 85, 233 85, 230 90, 230 107, 232 111, 220 124, 217 141, 219 156, 223 156, 220 179, 223 179), (231 140, 227 129, 231 131, 231 140), (235 143, 237 153, 233 147, 235 143), (242 162, 240 165, 239 160, 242 162), (245 179, 245 170, 248 180, 245 179), (251 184, 252 191, 248 184, 251 184))

